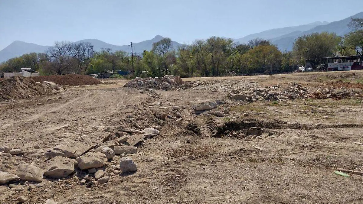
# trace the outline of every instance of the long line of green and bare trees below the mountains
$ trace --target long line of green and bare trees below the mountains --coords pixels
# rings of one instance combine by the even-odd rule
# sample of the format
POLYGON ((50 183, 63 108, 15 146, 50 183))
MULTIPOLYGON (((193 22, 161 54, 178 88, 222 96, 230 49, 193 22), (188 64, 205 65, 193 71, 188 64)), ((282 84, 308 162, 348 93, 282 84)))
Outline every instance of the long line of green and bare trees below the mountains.
POLYGON ((55 42, 45 53, 29 53, 0 64, 0 71, 20 72, 21 68, 49 74, 94 74, 117 70, 134 77, 158 77, 166 74, 182 77, 207 77, 291 71, 292 66, 309 61, 313 69, 321 57, 363 54, 363 19, 352 19, 352 32, 312 33, 297 38, 292 51, 281 52, 269 40, 256 38, 246 44, 232 39, 210 37, 191 45, 174 48, 170 38, 152 45, 150 51, 133 57, 125 51, 101 49, 95 52, 87 42, 55 42))

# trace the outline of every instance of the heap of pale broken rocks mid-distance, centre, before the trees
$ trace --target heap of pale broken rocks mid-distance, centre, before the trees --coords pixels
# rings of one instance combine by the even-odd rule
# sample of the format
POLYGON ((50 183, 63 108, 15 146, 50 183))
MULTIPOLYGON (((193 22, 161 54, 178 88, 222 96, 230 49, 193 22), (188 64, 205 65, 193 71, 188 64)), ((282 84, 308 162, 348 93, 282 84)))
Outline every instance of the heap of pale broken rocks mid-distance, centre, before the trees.
POLYGON ((184 82, 179 76, 165 75, 164 77, 149 77, 135 79, 127 82, 124 87, 140 88, 140 89, 163 89, 175 90, 178 86, 183 85, 184 82))

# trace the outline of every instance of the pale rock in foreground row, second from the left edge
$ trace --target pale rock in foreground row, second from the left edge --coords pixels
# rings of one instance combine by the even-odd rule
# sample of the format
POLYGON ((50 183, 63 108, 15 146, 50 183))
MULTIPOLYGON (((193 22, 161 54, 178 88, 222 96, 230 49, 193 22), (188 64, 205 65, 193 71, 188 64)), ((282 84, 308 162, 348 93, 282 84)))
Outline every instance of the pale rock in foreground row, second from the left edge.
POLYGON ((19 164, 16 175, 23 181, 42 182, 44 170, 30 164, 19 164))

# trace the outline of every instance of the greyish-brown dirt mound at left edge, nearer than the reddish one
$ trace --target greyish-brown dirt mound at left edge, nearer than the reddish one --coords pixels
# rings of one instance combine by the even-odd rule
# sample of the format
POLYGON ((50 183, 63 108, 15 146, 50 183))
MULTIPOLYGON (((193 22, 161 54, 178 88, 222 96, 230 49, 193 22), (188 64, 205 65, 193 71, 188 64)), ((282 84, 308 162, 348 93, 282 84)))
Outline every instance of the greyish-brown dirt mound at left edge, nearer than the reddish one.
POLYGON ((0 81, 0 99, 30 98, 35 95, 58 94, 64 89, 52 82, 35 82, 29 77, 10 77, 0 81))

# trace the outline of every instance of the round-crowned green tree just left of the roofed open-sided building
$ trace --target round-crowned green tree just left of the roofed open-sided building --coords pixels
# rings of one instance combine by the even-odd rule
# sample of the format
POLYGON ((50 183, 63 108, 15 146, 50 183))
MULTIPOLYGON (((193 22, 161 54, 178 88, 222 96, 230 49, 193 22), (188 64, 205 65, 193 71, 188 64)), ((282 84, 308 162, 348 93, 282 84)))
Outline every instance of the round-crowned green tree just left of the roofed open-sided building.
POLYGON ((297 38, 293 51, 298 58, 309 61, 313 69, 319 64, 321 57, 332 56, 340 38, 335 33, 312 33, 297 38))

